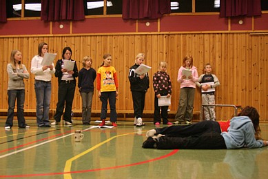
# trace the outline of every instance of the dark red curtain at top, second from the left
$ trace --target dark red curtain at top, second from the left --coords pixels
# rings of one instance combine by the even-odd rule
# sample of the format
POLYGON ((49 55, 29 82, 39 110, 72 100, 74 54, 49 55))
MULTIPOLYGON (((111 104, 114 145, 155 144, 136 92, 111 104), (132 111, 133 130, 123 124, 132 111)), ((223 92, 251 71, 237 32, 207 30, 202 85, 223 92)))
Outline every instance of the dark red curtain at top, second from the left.
POLYGON ((79 21, 85 19, 83 0, 42 0, 41 20, 79 21))

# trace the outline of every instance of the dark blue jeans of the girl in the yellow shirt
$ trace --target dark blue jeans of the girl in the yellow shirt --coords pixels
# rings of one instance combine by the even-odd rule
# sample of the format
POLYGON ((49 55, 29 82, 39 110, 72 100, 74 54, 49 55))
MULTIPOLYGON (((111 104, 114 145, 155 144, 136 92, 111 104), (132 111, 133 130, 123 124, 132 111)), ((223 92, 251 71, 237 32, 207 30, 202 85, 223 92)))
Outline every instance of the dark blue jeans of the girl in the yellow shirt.
POLYGON ((105 120, 107 117, 107 101, 109 99, 110 104, 110 121, 116 122, 117 120, 117 113, 116 113, 116 92, 101 92, 101 120, 105 120))

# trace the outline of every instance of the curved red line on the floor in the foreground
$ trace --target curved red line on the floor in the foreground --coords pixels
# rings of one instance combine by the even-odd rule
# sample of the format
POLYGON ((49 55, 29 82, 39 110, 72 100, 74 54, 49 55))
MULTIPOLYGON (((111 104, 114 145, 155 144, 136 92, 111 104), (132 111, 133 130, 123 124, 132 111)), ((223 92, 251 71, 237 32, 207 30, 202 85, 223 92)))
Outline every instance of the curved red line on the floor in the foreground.
POLYGON ((87 173, 87 172, 92 172, 92 171, 103 171, 103 170, 110 170, 110 169, 119 169, 123 167, 132 167, 138 164, 145 164, 149 162, 154 162, 156 160, 161 160, 163 158, 168 158, 170 156, 173 156, 175 153, 178 152, 178 149, 175 149, 171 151, 170 153, 167 153, 165 156, 160 156, 158 158, 152 158, 150 160, 145 160, 141 162, 136 162, 133 164, 124 164, 124 165, 119 165, 119 166, 114 166, 114 167, 106 167, 102 169, 89 169, 89 170, 81 170, 81 171, 68 171, 68 172, 59 172, 59 173, 40 173, 40 174, 25 174, 25 175, 14 175, 14 176, 0 176, 0 178, 8 178, 8 177, 33 177, 33 176, 55 176, 55 175, 63 175, 63 174, 68 174, 68 173, 87 173))

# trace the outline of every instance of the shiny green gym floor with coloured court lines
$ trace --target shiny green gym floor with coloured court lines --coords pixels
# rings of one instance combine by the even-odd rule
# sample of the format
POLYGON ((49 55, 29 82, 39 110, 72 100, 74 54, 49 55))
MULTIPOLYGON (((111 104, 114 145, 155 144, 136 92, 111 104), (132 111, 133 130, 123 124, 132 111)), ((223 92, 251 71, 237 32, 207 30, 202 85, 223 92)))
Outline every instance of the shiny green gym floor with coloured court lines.
MULTIPOLYGON (((235 150, 143 149, 145 133, 155 126, 118 122, 112 129, 73 126, 10 131, 0 120, 0 178, 267 178, 268 147, 235 150), (74 141, 74 131, 84 138, 74 141)), ((52 121, 51 121, 52 122, 52 121)), ((161 124, 161 127, 165 125, 161 124)), ((268 139, 268 124, 260 124, 268 139)))

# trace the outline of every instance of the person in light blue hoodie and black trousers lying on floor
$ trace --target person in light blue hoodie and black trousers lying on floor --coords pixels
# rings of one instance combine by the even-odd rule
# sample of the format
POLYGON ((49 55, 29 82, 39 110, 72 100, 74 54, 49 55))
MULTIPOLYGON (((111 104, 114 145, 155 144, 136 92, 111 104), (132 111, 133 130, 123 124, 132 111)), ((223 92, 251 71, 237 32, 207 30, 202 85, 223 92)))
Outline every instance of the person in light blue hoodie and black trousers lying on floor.
POLYGON ((258 111, 246 106, 228 122, 203 121, 189 126, 169 126, 147 132, 143 148, 152 149, 238 149, 260 148, 258 111))

